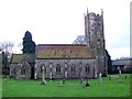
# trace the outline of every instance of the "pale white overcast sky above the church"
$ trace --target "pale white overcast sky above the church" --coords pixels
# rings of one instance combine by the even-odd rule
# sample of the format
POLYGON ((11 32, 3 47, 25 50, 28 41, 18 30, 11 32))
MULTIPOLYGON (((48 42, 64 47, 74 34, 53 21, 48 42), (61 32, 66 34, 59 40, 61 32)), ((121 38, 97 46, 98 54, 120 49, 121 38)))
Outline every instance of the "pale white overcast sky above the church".
MULTIPOLYGON (((72 44, 85 34, 84 13, 103 9, 106 48, 112 59, 130 56, 131 0, 0 0, 0 42, 22 42, 25 31, 36 44, 72 44)), ((20 48, 15 48, 14 53, 20 48)))

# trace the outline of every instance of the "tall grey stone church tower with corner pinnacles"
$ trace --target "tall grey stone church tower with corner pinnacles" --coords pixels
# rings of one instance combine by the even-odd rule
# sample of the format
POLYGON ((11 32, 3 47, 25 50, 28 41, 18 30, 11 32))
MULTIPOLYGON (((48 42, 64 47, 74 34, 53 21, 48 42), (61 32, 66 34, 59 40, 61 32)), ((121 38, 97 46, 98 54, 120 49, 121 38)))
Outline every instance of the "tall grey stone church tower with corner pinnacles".
POLYGON ((94 12, 85 14, 85 37, 96 58, 97 74, 107 74, 106 41, 103 32, 103 11, 101 15, 94 12))

